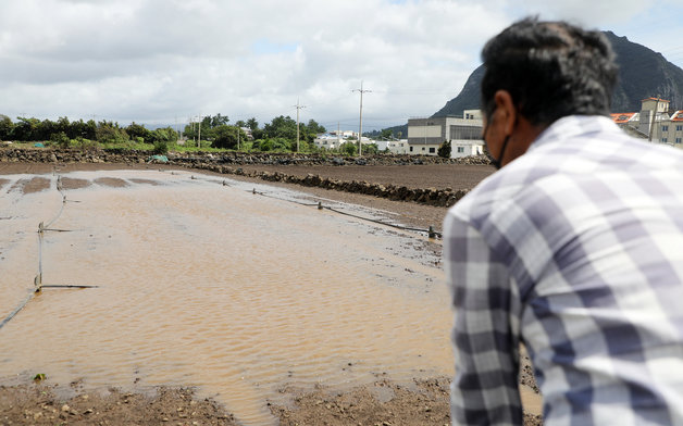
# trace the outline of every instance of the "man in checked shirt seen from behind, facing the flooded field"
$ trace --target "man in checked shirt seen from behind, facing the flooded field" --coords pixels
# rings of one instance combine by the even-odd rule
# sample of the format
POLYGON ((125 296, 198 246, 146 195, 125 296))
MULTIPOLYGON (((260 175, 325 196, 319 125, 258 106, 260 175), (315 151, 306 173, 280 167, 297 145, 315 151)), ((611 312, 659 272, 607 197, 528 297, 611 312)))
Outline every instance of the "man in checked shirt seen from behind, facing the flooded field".
POLYGON ((482 59, 502 168, 444 222, 454 423, 522 424, 523 343, 546 425, 683 424, 683 152, 608 117, 599 32, 526 18, 482 59))

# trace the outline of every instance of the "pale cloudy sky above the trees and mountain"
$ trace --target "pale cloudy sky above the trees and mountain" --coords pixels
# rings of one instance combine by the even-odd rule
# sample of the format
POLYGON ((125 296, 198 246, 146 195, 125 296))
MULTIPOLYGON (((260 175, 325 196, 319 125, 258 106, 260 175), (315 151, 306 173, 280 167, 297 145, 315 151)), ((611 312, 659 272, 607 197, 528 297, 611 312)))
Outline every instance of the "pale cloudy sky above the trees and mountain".
POLYGON ((0 0, 0 114, 363 129, 430 115, 516 20, 564 18, 683 67, 672 0, 0 0))

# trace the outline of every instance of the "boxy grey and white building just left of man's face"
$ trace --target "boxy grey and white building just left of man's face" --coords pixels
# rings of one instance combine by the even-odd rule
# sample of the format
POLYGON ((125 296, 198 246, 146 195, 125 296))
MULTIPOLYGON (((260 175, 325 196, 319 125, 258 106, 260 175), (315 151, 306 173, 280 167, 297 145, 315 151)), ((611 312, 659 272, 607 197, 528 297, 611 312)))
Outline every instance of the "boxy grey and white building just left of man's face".
POLYGON ((437 155, 438 147, 450 141, 450 156, 484 152, 483 120, 480 110, 465 110, 461 117, 446 116, 408 120, 408 153, 437 155))

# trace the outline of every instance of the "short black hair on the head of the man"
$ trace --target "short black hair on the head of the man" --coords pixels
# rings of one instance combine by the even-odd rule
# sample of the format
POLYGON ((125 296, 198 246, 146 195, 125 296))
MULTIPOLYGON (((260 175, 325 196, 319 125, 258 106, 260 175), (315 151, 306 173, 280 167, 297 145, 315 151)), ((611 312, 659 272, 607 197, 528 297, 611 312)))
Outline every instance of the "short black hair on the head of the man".
POLYGON ((524 18, 482 50, 482 109, 490 117, 494 95, 502 89, 533 125, 573 114, 608 115, 617 83, 614 58, 600 32, 524 18))

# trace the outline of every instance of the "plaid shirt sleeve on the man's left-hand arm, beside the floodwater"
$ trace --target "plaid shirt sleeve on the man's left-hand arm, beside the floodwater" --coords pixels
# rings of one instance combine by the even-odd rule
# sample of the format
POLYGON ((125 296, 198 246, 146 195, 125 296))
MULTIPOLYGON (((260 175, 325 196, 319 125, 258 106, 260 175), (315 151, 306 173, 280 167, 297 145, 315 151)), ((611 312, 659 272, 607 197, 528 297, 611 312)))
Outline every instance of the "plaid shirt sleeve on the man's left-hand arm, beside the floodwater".
POLYGON ((454 214, 444 223, 444 258, 455 309, 454 425, 521 425, 507 267, 482 235, 454 214))

